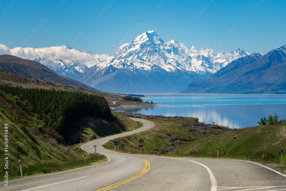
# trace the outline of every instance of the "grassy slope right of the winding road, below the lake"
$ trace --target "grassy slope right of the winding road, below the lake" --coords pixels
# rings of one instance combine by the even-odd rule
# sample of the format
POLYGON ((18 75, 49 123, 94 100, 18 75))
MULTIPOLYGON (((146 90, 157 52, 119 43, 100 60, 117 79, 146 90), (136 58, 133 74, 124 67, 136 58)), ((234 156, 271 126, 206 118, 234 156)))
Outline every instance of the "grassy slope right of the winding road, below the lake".
MULTIPOLYGON (((155 127, 144 132, 122 137, 119 151, 140 153, 139 139, 144 140, 144 153, 187 157, 217 157, 219 146, 220 157, 257 160, 262 162, 280 163, 281 147, 286 146, 286 128, 284 125, 265 125, 244 129, 215 129, 219 134, 197 131, 195 127, 178 126, 190 120, 147 119, 155 127), (195 129, 191 130, 190 129, 195 129), (156 150, 157 149, 157 150, 156 150)), ((211 129, 210 129, 211 130, 211 129)), ((113 141, 113 140, 112 140, 113 141)), ((113 142, 105 146, 113 148, 113 142)), ((286 156, 284 155, 284 161, 286 156)))

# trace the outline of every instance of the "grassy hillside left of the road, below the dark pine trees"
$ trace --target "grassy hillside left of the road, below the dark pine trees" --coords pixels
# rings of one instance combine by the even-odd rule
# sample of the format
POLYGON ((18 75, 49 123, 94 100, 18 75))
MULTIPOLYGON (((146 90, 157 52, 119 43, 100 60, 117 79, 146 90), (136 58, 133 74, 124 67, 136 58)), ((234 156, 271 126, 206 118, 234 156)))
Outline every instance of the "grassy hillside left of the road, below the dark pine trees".
MULTIPOLYGON (((41 125, 41 122, 35 117, 27 115, 18 105, 11 103, 2 92, 0 92, 0 106, 1 110, 4 109, 4 112, 0 111, 0 145, 4 145, 5 141, 5 123, 9 126, 9 151, 5 152, 4 146, 0 150, 1 156, 4 156, 4 152, 9 153, 9 180, 20 176, 19 159, 22 160, 23 174, 26 176, 68 170, 107 160, 104 156, 98 158, 92 155, 85 164, 82 160, 84 151, 78 150, 73 144, 69 147, 59 144, 58 141, 61 140, 61 136, 56 132, 45 130, 40 132, 37 126, 41 125)), ((78 124, 84 126, 84 123, 89 122, 82 119, 82 122, 78 122, 78 124)), ((101 122, 105 126, 97 124, 97 128, 93 129, 86 126, 83 133, 78 134, 79 137, 82 137, 83 140, 89 136, 90 138, 92 136, 98 138, 109 135, 109 133, 120 133, 122 130, 129 131, 140 126, 138 122, 134 122, 119 113, 114 113, 112 120, 101 120, 101 122)), ((4 171, 6 171, 4 164, 4 157, 1 157, 0 181, 4 180, 4 171)))

